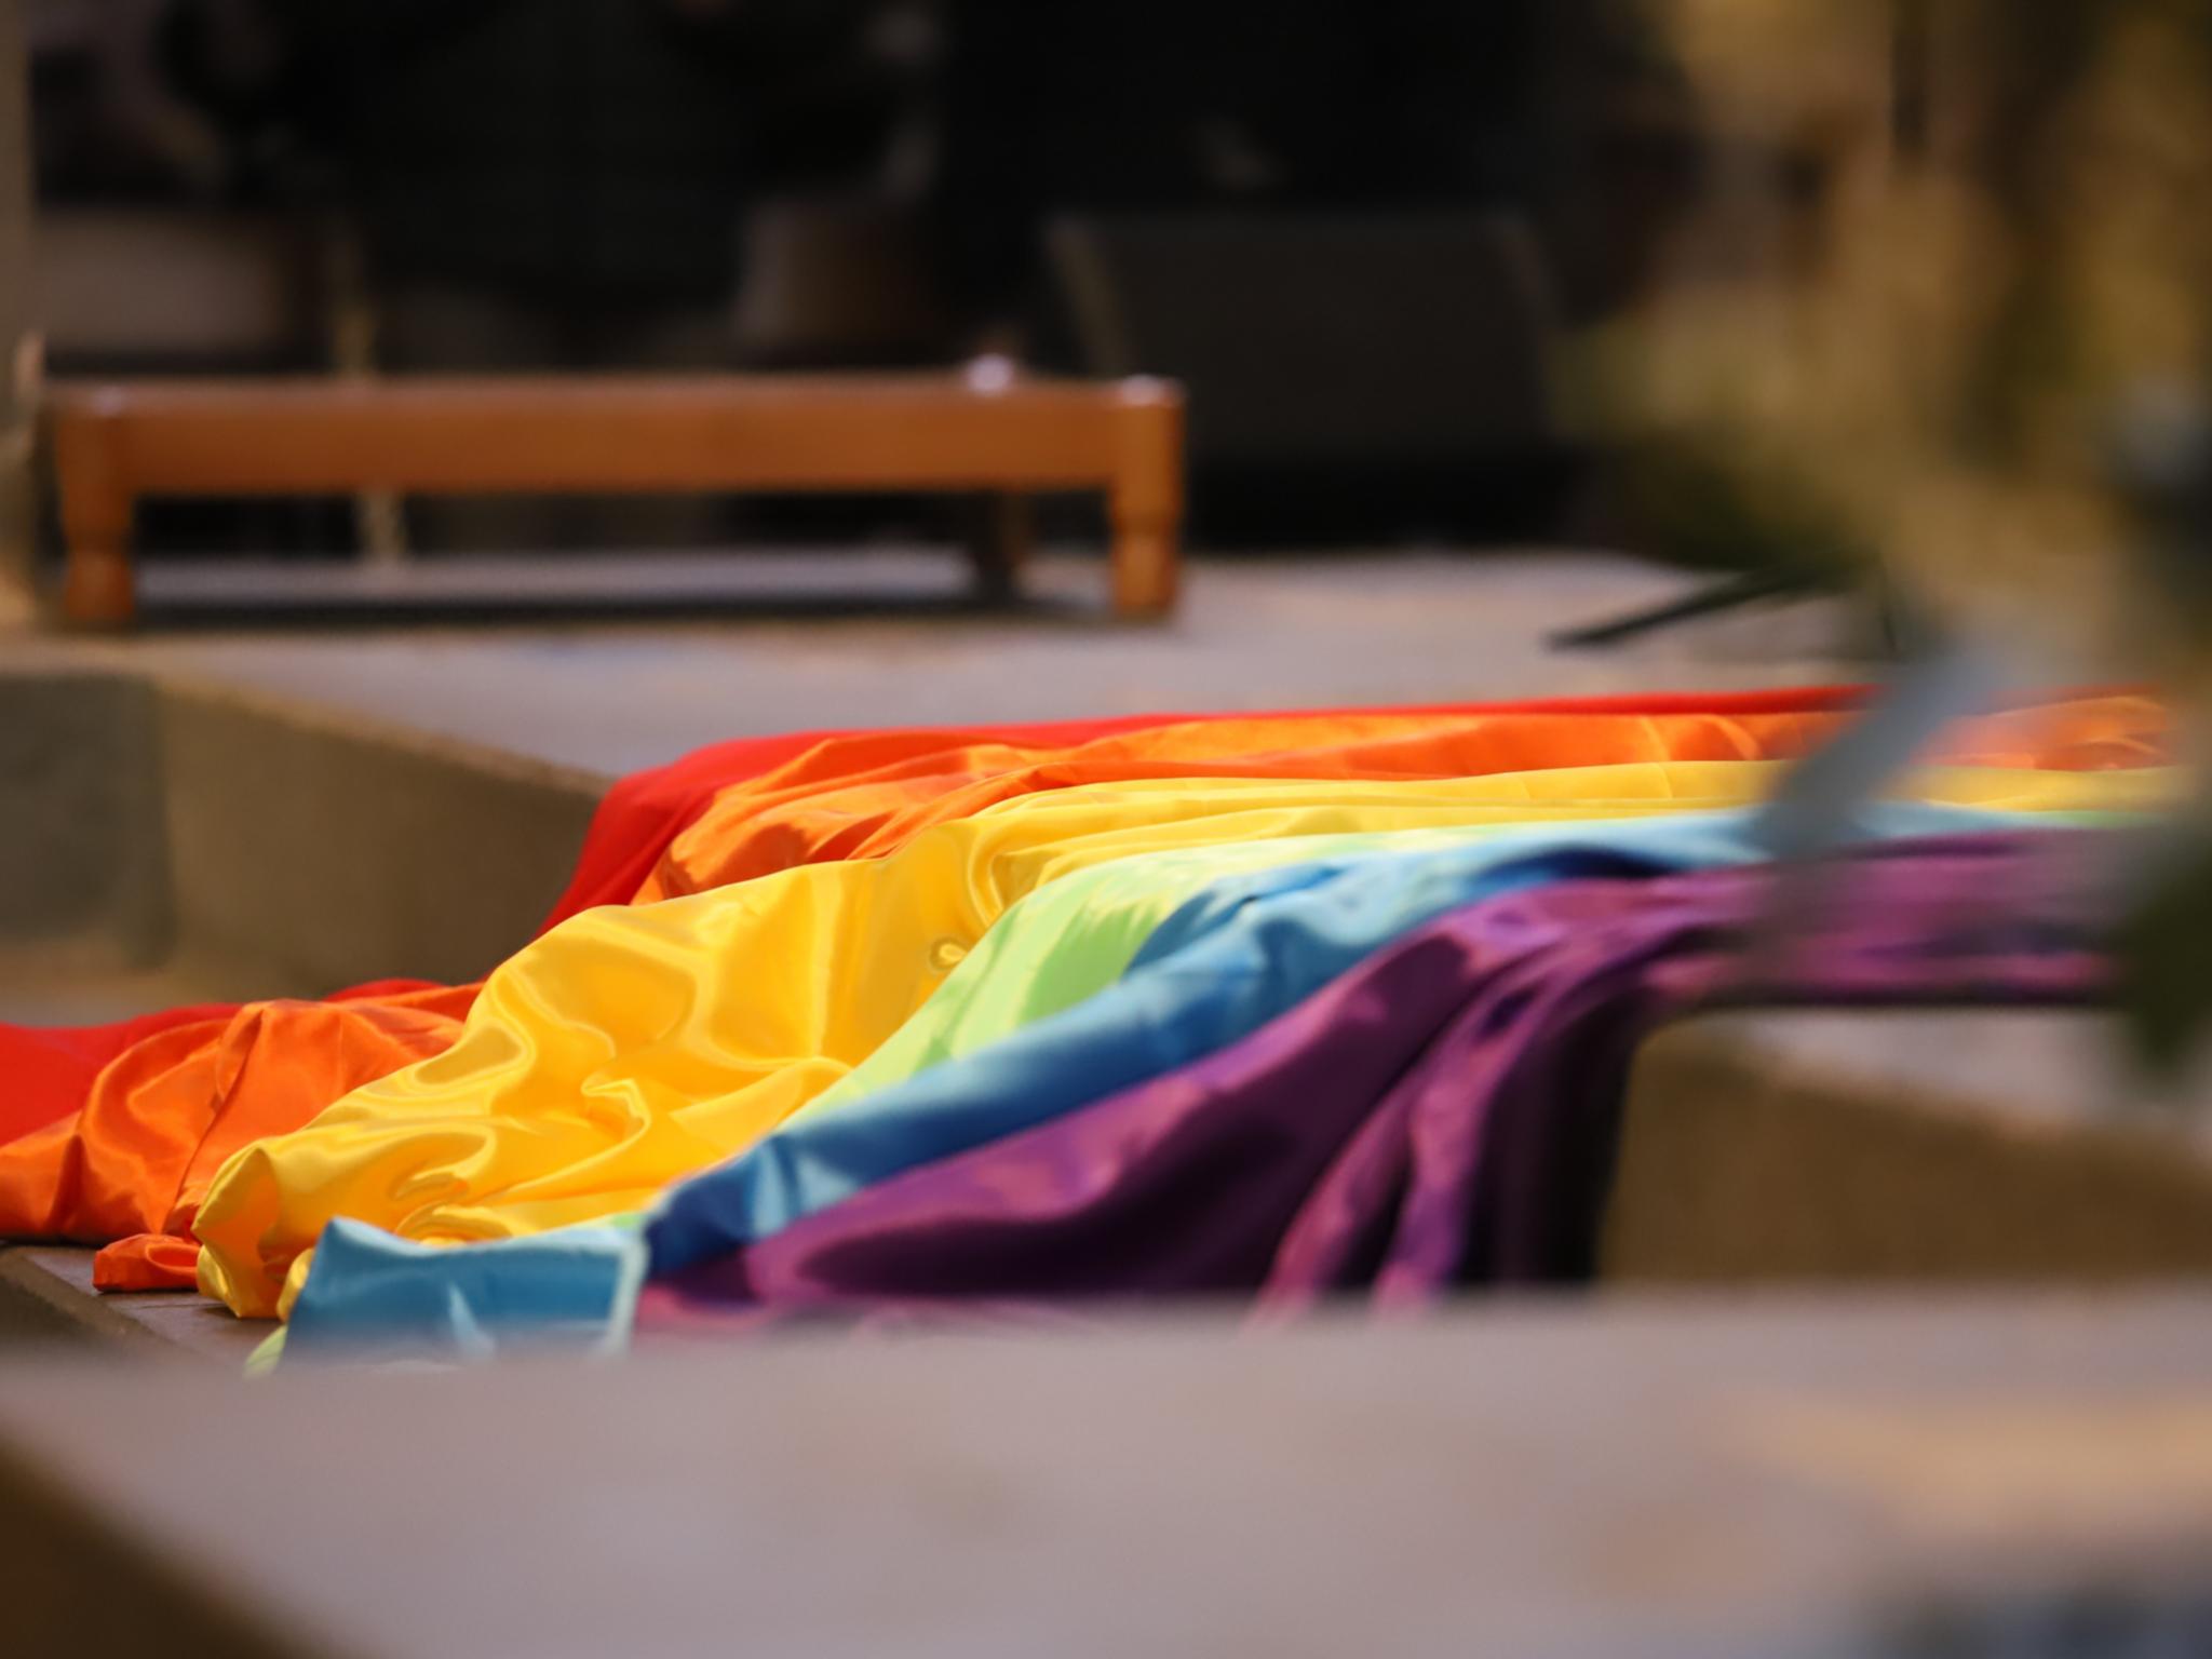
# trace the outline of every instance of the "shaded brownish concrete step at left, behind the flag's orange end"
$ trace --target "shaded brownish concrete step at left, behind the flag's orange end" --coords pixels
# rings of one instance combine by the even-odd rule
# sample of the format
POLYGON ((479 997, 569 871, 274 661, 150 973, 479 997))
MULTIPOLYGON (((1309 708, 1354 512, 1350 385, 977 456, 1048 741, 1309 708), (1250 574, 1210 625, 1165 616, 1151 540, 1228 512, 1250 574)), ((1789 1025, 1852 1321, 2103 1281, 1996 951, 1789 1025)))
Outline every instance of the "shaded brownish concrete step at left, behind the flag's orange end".
MULTIPOLYGON (((604 779, 188 672, 0 668, 0 1020, 469 980, 526 940, 604 779)), ((0 1088, 7 1079, 0 1077, 0 1088)), ((239 1363, 199 1296, 97 1296, 0 1252, 0 1345, 239 1363)))

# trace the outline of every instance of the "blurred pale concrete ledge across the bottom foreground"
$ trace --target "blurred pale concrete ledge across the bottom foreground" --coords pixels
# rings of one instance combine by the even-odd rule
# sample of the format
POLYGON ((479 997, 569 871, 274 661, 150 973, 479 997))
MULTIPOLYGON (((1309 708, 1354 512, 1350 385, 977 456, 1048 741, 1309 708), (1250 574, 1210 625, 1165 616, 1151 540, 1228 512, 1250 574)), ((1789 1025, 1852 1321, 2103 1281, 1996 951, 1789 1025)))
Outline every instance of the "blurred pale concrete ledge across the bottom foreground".
POLYGON ((2212 1301, 0 1369, 15 1652, 2168 1655, 2212 1301))

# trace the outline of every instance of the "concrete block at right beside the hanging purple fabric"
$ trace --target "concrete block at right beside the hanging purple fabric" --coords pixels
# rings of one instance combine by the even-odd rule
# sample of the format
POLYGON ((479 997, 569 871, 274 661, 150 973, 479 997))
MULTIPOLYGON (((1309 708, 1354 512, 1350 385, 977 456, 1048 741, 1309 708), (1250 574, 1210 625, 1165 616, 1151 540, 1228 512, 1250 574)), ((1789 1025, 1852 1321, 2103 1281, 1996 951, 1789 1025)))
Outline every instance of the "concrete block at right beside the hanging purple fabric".
POLYGON ((1601 1272, 1621 1285, 2212 1276, 2212 1079, 2146 1099, 2115 1022, 1736 1011, 1644 1046, 1601 1272))

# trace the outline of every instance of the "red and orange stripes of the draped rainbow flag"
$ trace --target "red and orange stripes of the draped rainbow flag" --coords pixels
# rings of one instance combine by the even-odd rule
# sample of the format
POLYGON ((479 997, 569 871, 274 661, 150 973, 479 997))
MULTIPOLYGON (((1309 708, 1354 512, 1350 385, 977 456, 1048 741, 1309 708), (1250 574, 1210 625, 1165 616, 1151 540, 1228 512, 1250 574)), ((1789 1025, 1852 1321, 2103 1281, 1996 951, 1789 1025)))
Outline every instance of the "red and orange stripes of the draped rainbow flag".
MULTIPOLYGON (((1484 754, 1491 761, 1537 761, 1546 750, 1652 754, 1666 752, 1668 743, 1690 752, 1794 754, 1860 697, 1856 690, 1792 690, 1433 710, 1148 714, 745 739, 617 783, 593 821, 577 876, 549 925, 582 907, 628 898, 650 883, 688 823, 739 799, 763 807, 759 825, 745 834, 759 830, 768 836, 748 843, 745 858, 825 858, 858 843, 805 834, 785 834, 776 843, 770 823, 776 803, 796 810, 810 794, 845 792, 830 814, 834 818, 856 810, 854 790, 894 774, 909 785, 931 779, 931 787, 956 772, 967 779, 958 801, 909 803, 902 816, 874 821, 865 849, 876 852, 898 845, 900 836, 933 816, 969 810, 993 790, 1064 787, 1075 776, 1106 776, 1117 765, 1141 776, 1146 768, 1172 768, 1188 757, 1239 745, 1259 750, 1237 761, 1250 772, 1314 770, 1321 776, 1365 765, 1385 774, 1391 768, 1471 765, 1484 754), (1513 737, 1515 719, 1562 737, 1557 743, 1533 741, 1528 732, 1513 737), (1438 723, 1458 737, 1442 748, 1422 748, 1420 728, 1438 723), (1161 739, 1146 750, 1139 739, 1155 730, 1161 739), (1334 752, 1332 732, 1338 739, 1334 752), (1133 748, 1117 752, 1115 743, 1133 748), (1022 776, 991 785, 980 757, 993 748, 1024 757, 1022 776), (1053 754, 1073 757, 1068 770, 1057 772, 1053 754)), ((2166 717, 2146 699, 2088 697, 1973 723, 1951 752, 1989 763, 2108 768, 2161 752, 2163 728, 2166 717)), ((737 823, 752 825, 752 818, 739 814, 737 823)), ((821 827, 827 818, 812 823, 821 827)), ((717 856, 710 834, 690 836, 686 849, 697 858, 717 856)), ((710 876, 686 876, 701 878, 710 876)), ((0 1237, 122 1239, 97 1263, 104 1287, 190 1283, 197 1261, 190 1223, 212 1170, 246 1141, 307 1121, 349 1084, 380 1075, 378 1066, 389 1071, 438 1053, 458 1033, 456 1022, 476 987, 453 987, 429 1002, 414 1000, 416 991, 358 987, 330 1004, 184 1009, 97 1031, 0 1026, 0 1079, 7 1079, 0 1086, 0 1237), (336 1002, 349 1004, 345 1018, 327 1015, 336 1002), (372 1004, 387 1006, 378 1013, 372 1004), (363 1033, 374 1035, 363 1040, 363 1033), (394 1033, 403 1035, 394 1040, 394 1033), (111 1066, 113 1079, 97 1091, 100 1110, 84 1113, 95 1079, 111 1066), (325 1088, 330 1093, 321 1093, 325 1088), (44 1133, 22 1141, 20 1135, 33 1128, 44 1133)))

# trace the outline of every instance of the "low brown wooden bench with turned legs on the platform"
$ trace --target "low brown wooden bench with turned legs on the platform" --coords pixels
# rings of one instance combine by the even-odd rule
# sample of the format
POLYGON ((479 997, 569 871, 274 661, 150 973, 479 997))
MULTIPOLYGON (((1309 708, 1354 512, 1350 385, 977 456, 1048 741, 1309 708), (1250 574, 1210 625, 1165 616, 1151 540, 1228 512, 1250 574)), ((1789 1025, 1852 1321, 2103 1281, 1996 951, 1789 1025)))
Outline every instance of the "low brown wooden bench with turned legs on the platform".
POLYGON ((1113 604, 1175 604, 1183 398, 1164 380, 383 378, 62 385, 62 613, 135 613, 142 495, 1104 491, 1113 604))

